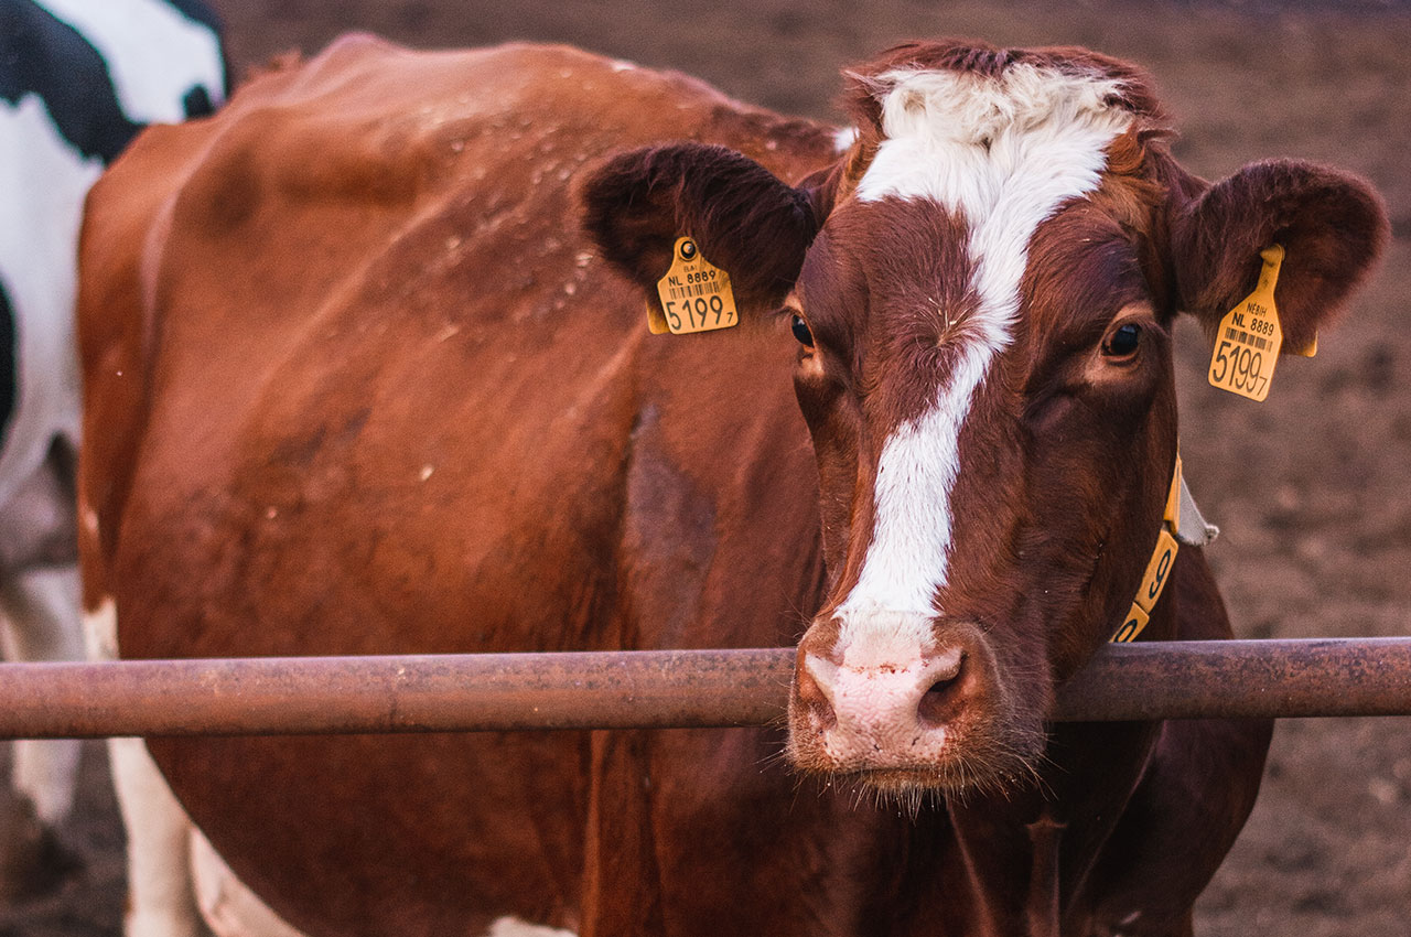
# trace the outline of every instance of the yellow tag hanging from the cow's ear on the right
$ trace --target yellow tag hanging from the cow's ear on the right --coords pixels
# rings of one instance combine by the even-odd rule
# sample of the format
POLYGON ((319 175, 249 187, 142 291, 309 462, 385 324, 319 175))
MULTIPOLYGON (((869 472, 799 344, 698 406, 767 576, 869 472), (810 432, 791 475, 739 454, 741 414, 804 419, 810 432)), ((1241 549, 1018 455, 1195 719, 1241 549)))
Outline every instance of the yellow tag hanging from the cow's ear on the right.
POLYGON ((1221 319, 1209 373, 1213 387, 1252 401, 1268 397, 1278 349, 1284 344, 1284 332, 1278 327, 1278 310, 1274 308, 1274 285, 1278 284, 1284 248, 1274 244, 1261 250, 1259 255, 1264 258, 1259 285, 1221 319))

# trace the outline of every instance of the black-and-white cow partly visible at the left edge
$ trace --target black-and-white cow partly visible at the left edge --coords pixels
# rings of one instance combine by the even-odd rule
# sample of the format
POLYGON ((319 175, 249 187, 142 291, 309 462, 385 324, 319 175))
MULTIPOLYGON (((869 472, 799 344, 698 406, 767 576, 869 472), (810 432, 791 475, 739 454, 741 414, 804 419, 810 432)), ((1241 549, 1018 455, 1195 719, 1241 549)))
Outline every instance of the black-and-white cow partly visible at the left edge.
MULTIPOLYGON (((199 0, 0 0, 0 649, 83 656, 73 340, 83 198, 147 124, 226 95, 219 24, 199 0)), ((66 865, 52 828, 78 742, 17 742, 0 807, 0 896, 66 865)))

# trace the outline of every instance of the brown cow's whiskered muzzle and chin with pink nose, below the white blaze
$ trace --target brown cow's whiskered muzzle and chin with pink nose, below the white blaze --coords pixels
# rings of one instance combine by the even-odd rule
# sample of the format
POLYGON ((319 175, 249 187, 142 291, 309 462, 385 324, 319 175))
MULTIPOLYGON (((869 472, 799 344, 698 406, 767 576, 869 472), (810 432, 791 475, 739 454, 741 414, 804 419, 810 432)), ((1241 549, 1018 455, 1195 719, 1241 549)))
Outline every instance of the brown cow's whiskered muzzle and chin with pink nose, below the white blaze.
MULTIPOLYGON (((1044 683, 1017 680, 978 628, 948 628, 935 649, 856 666, 799 646, 789 703, 789 759, 806 773, 849 782, 879 802, 919 804, 1041 783, 1044 683)), ((831 632, 831 634, 830 634, 831 632)))

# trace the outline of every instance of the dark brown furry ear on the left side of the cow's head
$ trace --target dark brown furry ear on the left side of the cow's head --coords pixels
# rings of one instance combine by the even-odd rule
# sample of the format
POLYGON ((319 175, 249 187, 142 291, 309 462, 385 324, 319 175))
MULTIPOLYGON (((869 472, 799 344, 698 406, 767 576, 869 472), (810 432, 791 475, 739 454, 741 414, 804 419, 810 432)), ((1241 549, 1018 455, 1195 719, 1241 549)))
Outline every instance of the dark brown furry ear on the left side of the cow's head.
POLYGON ((745 155, 700 143, 632 150, 581 183, 583 227, 602 257, 656 299, 677 237, 729 274, 741 312, 777 305, 820 219, 807 189, 745 155))

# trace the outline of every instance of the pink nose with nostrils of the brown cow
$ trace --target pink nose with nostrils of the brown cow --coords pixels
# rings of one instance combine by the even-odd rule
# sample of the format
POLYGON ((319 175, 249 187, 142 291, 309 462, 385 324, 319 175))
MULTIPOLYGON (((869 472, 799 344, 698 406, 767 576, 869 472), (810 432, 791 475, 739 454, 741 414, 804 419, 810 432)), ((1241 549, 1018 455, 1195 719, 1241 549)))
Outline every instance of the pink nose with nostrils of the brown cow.
POLYGON ((924 765, 964 704, 968 655, 961 645, 862 666, 804 652, 799 663, 797 703, 840 768, 924 765))

